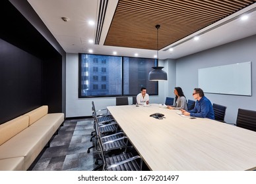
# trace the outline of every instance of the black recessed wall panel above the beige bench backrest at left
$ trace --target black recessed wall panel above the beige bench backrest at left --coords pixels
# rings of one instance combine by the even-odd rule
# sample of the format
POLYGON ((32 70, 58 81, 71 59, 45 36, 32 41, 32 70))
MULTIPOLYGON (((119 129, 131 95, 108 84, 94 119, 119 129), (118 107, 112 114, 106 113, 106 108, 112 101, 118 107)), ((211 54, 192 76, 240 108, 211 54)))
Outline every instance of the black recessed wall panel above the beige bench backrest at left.
POLYGON ((42 104, 42 60, 0 39, 0 124, 42 104))

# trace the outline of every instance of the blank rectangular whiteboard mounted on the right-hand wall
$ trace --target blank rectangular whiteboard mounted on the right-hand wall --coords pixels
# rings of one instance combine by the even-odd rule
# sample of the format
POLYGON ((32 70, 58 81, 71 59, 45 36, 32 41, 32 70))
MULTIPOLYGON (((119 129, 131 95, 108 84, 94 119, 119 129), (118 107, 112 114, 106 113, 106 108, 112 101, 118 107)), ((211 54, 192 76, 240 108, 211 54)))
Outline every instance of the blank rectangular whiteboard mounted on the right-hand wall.
POLYGON ((199 68, 198 83, 205 93, 251 96, 251 62, 199 68))

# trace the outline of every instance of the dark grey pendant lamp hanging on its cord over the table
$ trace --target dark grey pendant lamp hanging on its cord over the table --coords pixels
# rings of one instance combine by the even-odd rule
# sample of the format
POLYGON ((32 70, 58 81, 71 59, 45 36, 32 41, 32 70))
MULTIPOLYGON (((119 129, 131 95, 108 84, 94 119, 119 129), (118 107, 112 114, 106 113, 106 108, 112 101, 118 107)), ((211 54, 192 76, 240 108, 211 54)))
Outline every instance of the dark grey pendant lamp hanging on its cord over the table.
MULTIPOLYGON (((157 30, 157 60, 158 60, 158 29, 160 28, 160 25, 156 25, 157 30)), ((150 81, 161 81, 161 80, 167 80, 167 74, 162 70, 164 66, 153 66, 153 70, 149 72, 148 74, 148 80, 150 81)))

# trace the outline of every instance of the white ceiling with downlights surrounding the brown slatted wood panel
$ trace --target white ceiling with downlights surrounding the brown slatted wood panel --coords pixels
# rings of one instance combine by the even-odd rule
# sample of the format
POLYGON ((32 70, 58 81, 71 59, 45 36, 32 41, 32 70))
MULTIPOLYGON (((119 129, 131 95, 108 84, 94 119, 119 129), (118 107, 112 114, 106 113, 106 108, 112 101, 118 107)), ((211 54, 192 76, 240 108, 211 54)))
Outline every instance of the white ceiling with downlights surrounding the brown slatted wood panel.
MULTIPOLYGON (((153 58, 156 51, 146 49, 132 49, 124 47, 104 46, 104 41, 112 21, 112 17, 118 0, 109 0, 106 18, 100 37, 100 44, 89 43, 96 35, 96 25, 90 26, 90 20, 97 22, 99 0, 28 0, 38 16, 42 19, 49 31, 57 39, 66 53, 88 53, 92 49, 94 54, 113 55, 113 51, 119 56, 153 58), (61 17, 69 20, 64 22, 61 17)), ((180 58, 191 55, 205 49, 236 41, 243 37, 256 34, 256 3, 242 9, 214 24, 189 35, 172 45, 168 45, 159 51, 159 58, 180 58), (247 20, 241 20, 241 14, 247 14, 247 20), (233 20, 234 19, 234 20, 233 20), (231 20, 231 21, 230 21, 231 20), (226 21, 228 23, 226 23, 226 21), (219 26, 224 24, 223 26, 219 26), (212 29, 208 32, 208 29, 212 29), (205 32, 205 33, 204 33, 205 32), (204 33, 204 34, 202 34, 204 33), (192 39, 199 35, 199 40, 192 39), (174 47, 174 45, 177 45, 174 47), (165 51, 173 47, 173 51, 165 51)))

